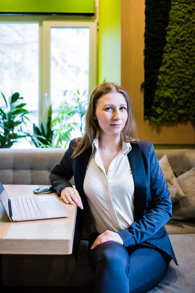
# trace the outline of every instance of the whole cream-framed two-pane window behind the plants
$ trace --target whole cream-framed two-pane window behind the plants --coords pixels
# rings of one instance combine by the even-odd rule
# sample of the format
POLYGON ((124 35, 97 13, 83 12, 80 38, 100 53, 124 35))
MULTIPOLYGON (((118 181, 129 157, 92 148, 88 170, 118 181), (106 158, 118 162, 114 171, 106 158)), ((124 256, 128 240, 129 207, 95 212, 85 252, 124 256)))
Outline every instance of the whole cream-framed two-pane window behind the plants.
POLYGON ((65 91, 90 93, 97 85, 96 21, 54 19, 0 16, 0 92, 18 91, 36 125, 46 123, 49 105, 55 110, 65 91))

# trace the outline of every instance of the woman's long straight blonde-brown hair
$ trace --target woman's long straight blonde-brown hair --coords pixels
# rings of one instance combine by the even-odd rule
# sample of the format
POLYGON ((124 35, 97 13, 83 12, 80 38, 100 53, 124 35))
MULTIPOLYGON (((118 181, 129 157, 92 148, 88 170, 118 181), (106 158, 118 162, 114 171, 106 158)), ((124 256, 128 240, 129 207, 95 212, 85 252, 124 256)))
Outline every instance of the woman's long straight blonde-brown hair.
POLYGON ((136 123, 134 120, 134 115, 132 112, 132 106, 131 106, 128 93, 117 83, 105 82, 96 86, 95 89, 91 93, 88 108, 86 111, 86 116, 85 116, 85 132, 84 132, 84 135, 80 139, 77 140, 77 144, 71 156, 73 159, 76 158, 78 155, 80 155, 86 148, 88 148, 89 146, 92 146, 92 143, 95 137, 99 136, 100 128, 98 125, 98 120, 94 119, 96 106, 97 106, 98 100, 103 95, 106 95, 109 93, 122 94, 127 103, 128 118, 127 118, 125 127, 120 133, 121 140, 126 143, 138 142, 138 139, 135 138, 137 128, 136 128, 136 123))

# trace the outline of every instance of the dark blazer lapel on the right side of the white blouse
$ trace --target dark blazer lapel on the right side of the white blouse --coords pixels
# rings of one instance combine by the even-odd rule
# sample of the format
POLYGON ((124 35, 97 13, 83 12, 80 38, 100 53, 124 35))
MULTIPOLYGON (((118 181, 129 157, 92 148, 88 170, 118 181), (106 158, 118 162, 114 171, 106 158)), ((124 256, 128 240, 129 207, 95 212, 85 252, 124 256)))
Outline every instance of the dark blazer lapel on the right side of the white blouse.
POLYGON ((143 217, 146 208, 146 171, 139 145, 131 144, 131 146, 132 149, 128 153, 128 158, 135 184, 134 221, 136 221, 143 217))

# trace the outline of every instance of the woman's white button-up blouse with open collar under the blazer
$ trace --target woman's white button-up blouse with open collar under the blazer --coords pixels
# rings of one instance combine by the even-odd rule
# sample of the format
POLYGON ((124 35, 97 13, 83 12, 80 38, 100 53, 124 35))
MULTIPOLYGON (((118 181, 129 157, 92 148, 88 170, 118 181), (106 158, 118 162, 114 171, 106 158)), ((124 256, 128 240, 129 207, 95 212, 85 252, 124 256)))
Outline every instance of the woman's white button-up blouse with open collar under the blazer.
POLYGON ((95 138, 83 188, 98 232, 119 232, 134 222, 134 180, 127 157, 132 147, 122 143, 106 174, 98 145, 95 138))

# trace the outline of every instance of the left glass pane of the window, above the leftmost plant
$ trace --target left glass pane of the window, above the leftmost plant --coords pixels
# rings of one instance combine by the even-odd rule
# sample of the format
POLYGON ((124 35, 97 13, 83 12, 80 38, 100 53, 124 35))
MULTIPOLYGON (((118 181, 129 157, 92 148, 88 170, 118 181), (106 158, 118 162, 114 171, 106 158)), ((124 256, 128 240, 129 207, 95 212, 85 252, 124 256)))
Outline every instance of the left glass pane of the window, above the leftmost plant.
POLYGON ((16 91, 29 110, 38 111, 38 23, 0 23, 0 92, 8 98, 16 91))

